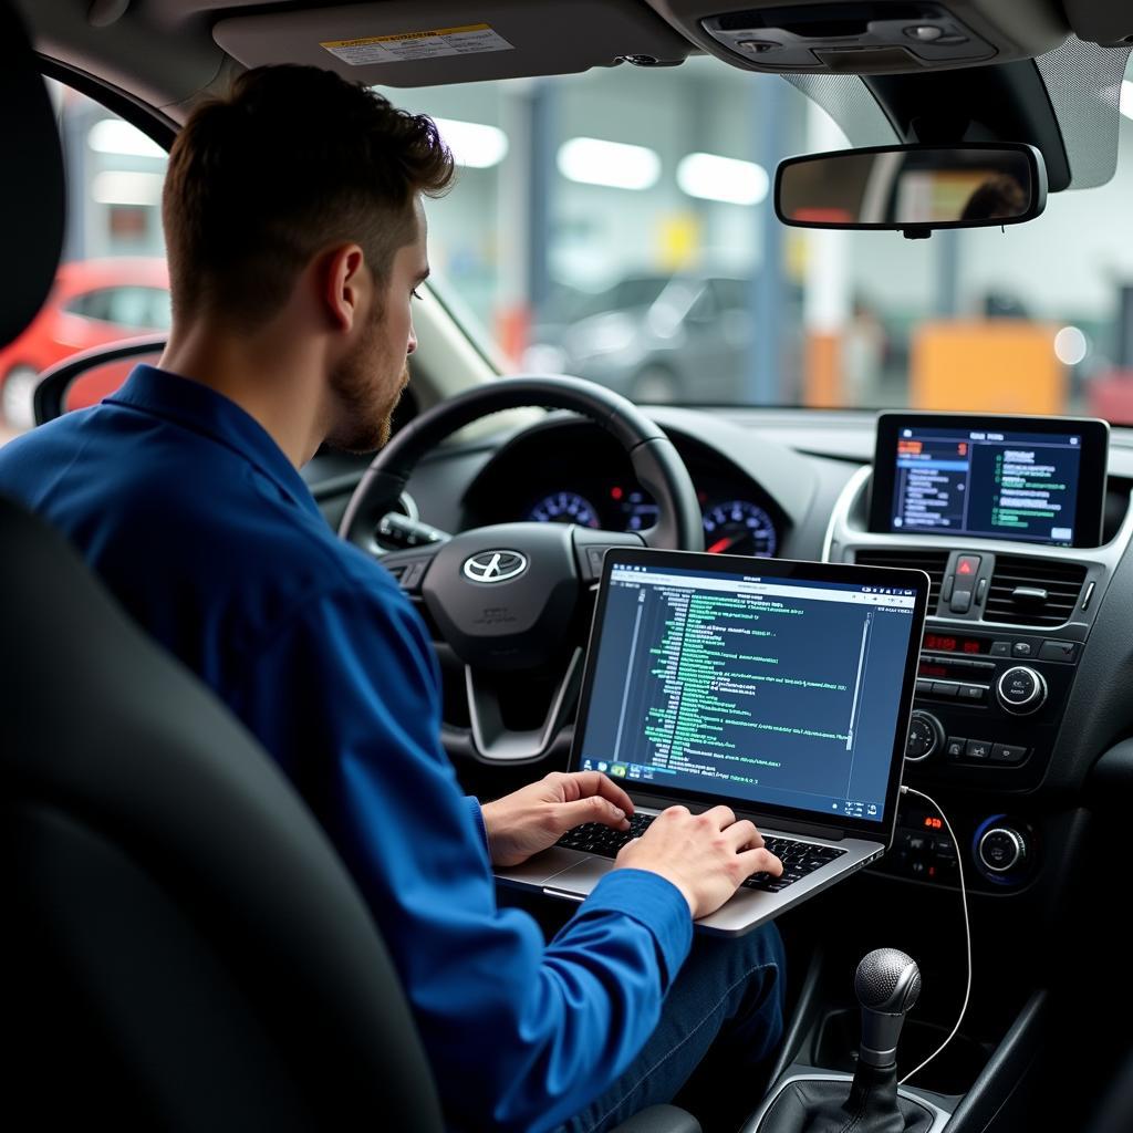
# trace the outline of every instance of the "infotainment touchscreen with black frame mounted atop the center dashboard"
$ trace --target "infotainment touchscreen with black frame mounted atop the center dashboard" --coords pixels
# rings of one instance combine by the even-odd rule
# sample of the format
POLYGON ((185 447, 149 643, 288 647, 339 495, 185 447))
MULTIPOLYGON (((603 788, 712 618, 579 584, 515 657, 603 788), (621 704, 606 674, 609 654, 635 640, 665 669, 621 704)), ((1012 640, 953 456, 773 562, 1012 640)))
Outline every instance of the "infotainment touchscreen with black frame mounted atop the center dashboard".
POLYGON ((881 414, 870 528, 1097 546, 1108 444, 1087 418, 881 414))

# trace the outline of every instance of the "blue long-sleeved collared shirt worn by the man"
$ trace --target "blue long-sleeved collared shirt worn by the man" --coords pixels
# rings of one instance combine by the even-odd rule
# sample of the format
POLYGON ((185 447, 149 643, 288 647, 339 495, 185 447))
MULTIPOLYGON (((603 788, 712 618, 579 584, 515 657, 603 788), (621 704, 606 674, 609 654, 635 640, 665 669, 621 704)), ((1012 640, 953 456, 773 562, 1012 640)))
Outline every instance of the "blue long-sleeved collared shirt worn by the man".
POLYGON ((440 746, 425 627, 248 414, 139 366, 0 449, 0 492, 70 538, 312 804, 390 948, 452 1127, 552 1128, 614 1081, 688 953, 688 905, 616 870, 550 945, 496 906, 479 807, 440 746))

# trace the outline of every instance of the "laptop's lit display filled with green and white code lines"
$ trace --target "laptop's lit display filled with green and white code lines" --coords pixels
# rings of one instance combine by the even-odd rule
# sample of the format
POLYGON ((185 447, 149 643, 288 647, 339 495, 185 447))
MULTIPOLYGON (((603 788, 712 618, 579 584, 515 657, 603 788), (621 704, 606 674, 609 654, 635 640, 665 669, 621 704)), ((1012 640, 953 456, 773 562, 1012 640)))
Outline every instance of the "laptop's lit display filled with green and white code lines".
POLYGON ((615 565, 581 768, 881 821, 912 590, 615 565))

